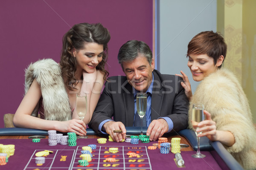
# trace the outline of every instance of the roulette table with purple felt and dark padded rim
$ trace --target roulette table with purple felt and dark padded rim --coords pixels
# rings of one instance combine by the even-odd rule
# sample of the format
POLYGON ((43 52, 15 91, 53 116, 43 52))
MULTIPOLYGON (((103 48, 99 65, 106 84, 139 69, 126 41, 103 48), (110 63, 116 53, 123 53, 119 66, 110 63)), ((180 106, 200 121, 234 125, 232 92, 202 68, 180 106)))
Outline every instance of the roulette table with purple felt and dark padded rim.
MULTIPOLYGON (((143 130, 144 131, 144 130, 143 130)), ((138 135, 140 129, 127 127, 127 134, 138 135), (135 130, 135 131, 134 131, 135 130)), ((197 149, 195 133, 191 130, 181 130, 176 135, 166 136, 168 142, 173 137, 180 137, 181 144, 188 144, 189 147, 181 148, 180 154, 184 160, 183 166, 178 166, 175 161, 175 154, 171 151, 168 154, 160 153, 160 149, 149 150, 157 141, 149 143, 131 144, 130 142, 110 142, 99 144, 98 138, 93 130, 87 130, 88 139, 77 139, 76 146, 57 144, 49 146, 47 131, 25 128, 0 128, 0 144, 14 144, 15 153, 9 157, 6 165, 0 165, 1 170, 239 170, 241 166, 224 149, 219 142, 209 142, 202 139, 201 153, 206 157, 203 159, 192 158, 197 149), (9 134, 9 136, 8 136, 9 134), (40 142, 32 142, 28 139, 31 135, 43 135, 40 142), (92 150, 92 160, 87 166, 80 166, 82 147, 89 144, 96 144, 92 150), (109 152, 110 147, 118 148, 117 153, 109 152), (52 153, 45 157, 44 164, 35 163, 35 154, 44 150, 52 153), (127 153, 137 153, 136 157, 128 156, 127 153), (231 157, 230 157, 231 156, 231 157), (115 158, 116 162, 108 162, 106 158, 115 158)), ((129 137, 129 136, 127 136, 129 137)), ((105 137, 108 139, 108 137, 105 137)))

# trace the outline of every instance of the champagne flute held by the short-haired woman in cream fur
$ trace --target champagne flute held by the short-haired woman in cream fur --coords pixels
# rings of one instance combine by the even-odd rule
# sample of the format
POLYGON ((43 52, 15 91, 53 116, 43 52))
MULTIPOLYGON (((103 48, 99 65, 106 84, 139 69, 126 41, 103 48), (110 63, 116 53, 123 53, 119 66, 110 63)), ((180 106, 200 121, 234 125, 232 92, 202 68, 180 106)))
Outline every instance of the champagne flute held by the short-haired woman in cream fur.
POLYGON ((198 137, 198 134, 201 134, 202 132, 196 132, 196 130, 199 128, 197 125, 199 122, 204 120, 204 105, 201 103, 193 104, 192 108, 192 126, 195 130, 195 134, 197 136, 197 142, 198 142, 198 149, 196 154, 192 155, 193 158, 204 158, 205 155, 200 153, 200 137, 198 137))

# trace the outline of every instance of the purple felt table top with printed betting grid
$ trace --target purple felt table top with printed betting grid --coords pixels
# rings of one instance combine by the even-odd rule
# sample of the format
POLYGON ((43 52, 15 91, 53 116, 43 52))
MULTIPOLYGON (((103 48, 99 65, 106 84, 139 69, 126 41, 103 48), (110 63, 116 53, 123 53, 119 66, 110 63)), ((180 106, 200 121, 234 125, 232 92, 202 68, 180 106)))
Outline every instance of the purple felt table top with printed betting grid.
POLYGON ((0 139, 0 144, 15 144, 15 153, 9 157, 6 165, 0 165, 0 170, 221 170, 221 167, 215 161, 208 151, 202 151, 206 157, 203 159, 192 158, 195 151, 182 151, 181 155, 185 161, 184 167, 177 167, 175 164, 174 153, 162 154, 160 149, 148 150, 147 147, 153 143, 131 144, 128 142, 109 142, 98 144, 97 139, 77 139, 77 146, 68 146, 57 144, 49 146, 48 139, 41 139, 41 142, 32 142, 32 139, 0 139), (83 146, 96 144, 93 150, 92 161, 87 167, 80 167, 78 160, 81 159, 81 150, 83 146), (109 147, 118 147, 117 153, 109 153, 109 147), (45 157, 46 161, 42 165, 35 163, 35 153, 44 150, 52 150, 45 157), (138 157, 129 158, 128 152, 138 153, 138 157), (106 162, 108 157, 114 157, 117 161, 114 163, 106 162))

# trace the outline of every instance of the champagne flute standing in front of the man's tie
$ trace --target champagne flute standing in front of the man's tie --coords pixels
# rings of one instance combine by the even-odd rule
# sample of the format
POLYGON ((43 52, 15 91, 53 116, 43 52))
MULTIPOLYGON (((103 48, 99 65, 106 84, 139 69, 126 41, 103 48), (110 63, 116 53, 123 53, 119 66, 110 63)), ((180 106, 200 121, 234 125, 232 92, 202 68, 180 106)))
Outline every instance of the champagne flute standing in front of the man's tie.
POLYGON ((147 94, 146 93, 137 93, 136 105, 137 105, 137 112, 140 116, 140 122, 141 122, 140 135, 143 135, 142 122, 143 122, 143 117, 145 116, 146 109, 147 109, 147 94))

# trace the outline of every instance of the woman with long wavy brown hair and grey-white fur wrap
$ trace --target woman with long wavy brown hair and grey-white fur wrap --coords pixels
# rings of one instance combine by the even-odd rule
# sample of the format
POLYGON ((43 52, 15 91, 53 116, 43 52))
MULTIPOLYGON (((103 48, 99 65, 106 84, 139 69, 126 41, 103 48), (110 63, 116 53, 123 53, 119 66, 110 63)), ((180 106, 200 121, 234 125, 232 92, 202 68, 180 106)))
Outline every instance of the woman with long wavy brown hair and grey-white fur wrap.
POLYGON ((52 59, 30 64, 25 75, 25 96, 15 113, 14 125, 86 135, 86 125, 108 76, 105 63, 109 40, 108 29, 100 23, 76 24, 63 37, 59 64, 52 59), (83 121, 76 113, 78 92, 87 94, 83 121))

